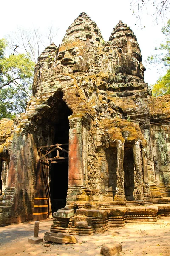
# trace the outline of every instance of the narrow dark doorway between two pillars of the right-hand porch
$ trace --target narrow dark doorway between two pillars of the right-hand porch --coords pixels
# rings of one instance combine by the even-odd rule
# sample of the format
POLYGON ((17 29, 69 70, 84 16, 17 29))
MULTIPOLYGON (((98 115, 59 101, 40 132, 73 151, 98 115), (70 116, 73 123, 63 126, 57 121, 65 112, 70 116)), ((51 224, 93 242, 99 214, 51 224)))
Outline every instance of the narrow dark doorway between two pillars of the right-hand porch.
POLYGON ((124 148, 124 187, 126 200, 134 200, 134 160, 131 147, 124 148))

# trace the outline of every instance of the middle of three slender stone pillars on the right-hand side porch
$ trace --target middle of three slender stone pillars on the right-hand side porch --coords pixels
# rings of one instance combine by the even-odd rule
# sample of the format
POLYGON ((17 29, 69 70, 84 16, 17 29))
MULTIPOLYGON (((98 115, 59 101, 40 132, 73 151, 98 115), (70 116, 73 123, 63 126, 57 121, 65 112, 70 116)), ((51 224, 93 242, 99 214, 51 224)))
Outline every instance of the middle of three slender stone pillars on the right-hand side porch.
POLYGON ((133 144, 133 159, 135 165, 135 174, 134 174, 134 198, 135 200, 144 200, 144 190, 143 190, 143 173, 142 173, 142 161, 141 161, 141 152, 140 152, 140 141, 136 141, 133 144))

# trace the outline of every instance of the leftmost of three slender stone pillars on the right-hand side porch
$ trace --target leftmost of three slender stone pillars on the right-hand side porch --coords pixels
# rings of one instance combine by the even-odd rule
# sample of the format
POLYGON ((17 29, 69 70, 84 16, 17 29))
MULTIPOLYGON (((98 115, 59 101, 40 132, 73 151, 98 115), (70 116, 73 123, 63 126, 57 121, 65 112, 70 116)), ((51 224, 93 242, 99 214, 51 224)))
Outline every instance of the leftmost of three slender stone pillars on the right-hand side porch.
POLYGON ((124 201, 125 200, 125 190, 124 190, 124 169, 123 169, 123 159, 124 159, 124 144, 117 143, 117 188, 116 195, 114 196, 114 201, 124 201))

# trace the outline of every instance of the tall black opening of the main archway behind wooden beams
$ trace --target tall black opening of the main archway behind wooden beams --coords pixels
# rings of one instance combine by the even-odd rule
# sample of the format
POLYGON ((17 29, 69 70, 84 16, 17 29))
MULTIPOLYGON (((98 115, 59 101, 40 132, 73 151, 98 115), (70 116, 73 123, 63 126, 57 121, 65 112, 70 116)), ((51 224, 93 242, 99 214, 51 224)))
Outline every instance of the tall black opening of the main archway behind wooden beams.
MULTIPOLYGON (((62 100, 62 93, 58 96, 56 104, 53 105, 53 121, 54 131, 52 144, 68 144, 69 140, 69 120, 68 116, 72 114, 66 103, 62 100), (60 97, 59 97, 60 96, 60 97), (54 118, 55 116, 55 118, 54 118)), ((61 146, 62 148, 62 146, 61 146)), ((63 146, 68 150, 68 145, 63 146)), ((54 151, 51 156, 54 157, 54 151)), ((67 155, 68 156, 68 155, 67 155)), ((51 195, 51 210, 52 213, 58 209, 65 207, 67 189, 68 189, 68 159, 58 160, 57 163, 51 161, 49 168, 49 188, 51 195)), ((55 162, 55 161, 54 161, 55 162)))

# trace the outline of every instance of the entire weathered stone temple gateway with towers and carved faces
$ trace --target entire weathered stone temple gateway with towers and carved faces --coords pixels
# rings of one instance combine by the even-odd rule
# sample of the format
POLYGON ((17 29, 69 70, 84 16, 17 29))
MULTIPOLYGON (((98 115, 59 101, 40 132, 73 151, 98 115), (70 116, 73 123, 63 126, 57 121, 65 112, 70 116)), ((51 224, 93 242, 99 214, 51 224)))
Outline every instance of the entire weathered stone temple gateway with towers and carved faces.
POLYGON ((1 225, 52 211, 52 232, 91 234, 170 214, 170 97, 144 71, 125 23, 104 41, 84 12, 42 52, 26 113, 0 121, 1 225))

